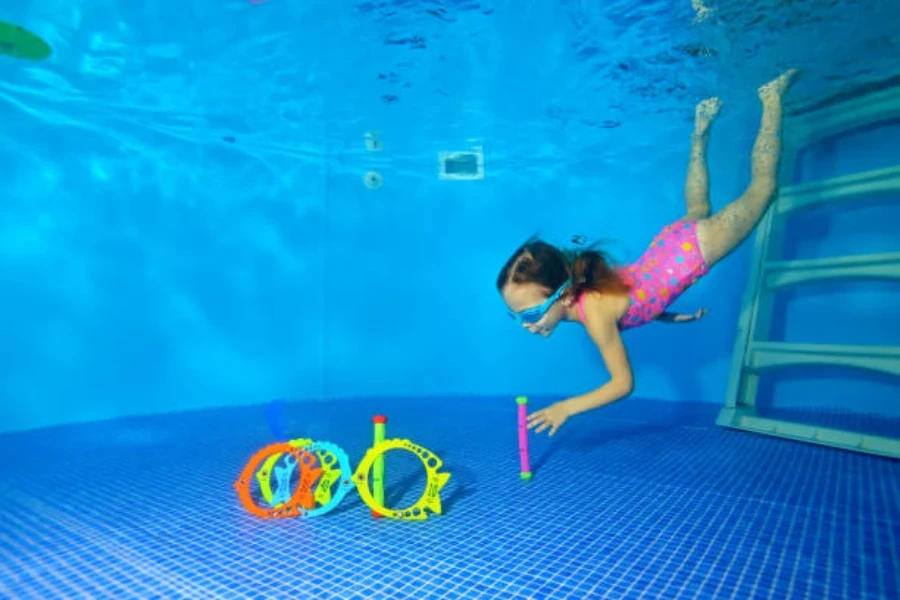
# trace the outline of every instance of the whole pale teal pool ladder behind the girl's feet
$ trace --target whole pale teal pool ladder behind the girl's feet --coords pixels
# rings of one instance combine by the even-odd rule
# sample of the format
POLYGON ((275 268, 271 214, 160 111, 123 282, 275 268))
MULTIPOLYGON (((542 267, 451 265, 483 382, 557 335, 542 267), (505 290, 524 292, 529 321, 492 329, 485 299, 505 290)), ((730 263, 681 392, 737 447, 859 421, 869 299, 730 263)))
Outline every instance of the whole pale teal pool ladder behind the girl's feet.
MULTIPOLYGON (((783 169, 793 174, 798 152, 818 140, 900 117, 900 85, 822 104, 789 116, 783 169)), ((761 417, 756 411, 760 375, 767 369, 824 365, 866 369, 900 377, 900 346, 798 344, 770 339, 774 296, 789 287, 835 280, 900 280, 900 252, 782 260, 788 218, 800 210, 858 198, 900 194, 900 165, 781 188, 763 218, 750 279, 738 320, 724 427, 844 450, 900 458, 900 439, 761 417)), ((900 398, 896 399, 900 402, 900 398)))

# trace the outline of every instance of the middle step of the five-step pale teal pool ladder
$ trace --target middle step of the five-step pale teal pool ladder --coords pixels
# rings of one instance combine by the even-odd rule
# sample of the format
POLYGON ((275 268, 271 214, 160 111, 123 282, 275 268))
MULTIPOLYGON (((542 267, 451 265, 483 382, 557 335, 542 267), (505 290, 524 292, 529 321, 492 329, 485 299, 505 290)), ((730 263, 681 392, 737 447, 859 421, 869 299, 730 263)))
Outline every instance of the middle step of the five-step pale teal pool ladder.
POLYGON ((900 252, 764 263, 766 288, 834 279, 900 279, 900 252))

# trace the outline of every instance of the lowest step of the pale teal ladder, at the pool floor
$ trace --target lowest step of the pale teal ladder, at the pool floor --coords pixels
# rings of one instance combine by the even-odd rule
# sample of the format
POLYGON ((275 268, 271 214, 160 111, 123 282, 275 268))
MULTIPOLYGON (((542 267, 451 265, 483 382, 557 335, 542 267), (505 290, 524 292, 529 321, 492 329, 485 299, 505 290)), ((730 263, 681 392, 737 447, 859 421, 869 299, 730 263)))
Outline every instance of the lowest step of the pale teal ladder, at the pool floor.
POLYGON ((767 419, 746 414, 738 408, 723 408, 716 420, 718 425, 761 433, 800 442, 812 442, 842 450, 854 450, 890 458, 900 458, 900 439, 867 435, 842 429, 817 427, 793 421, 767 419))

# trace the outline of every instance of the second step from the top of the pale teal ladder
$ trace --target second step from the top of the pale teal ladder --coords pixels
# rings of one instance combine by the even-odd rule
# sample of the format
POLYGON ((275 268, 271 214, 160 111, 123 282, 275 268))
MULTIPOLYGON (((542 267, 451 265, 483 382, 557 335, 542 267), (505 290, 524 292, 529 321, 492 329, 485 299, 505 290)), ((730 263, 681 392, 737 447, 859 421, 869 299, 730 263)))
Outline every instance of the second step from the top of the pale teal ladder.
POLYGON ((775 211, 782 216, 801 208, 844 200, 853 196, 896 191, 900 191, 900 166, 783 187, 778 193, 775 211))

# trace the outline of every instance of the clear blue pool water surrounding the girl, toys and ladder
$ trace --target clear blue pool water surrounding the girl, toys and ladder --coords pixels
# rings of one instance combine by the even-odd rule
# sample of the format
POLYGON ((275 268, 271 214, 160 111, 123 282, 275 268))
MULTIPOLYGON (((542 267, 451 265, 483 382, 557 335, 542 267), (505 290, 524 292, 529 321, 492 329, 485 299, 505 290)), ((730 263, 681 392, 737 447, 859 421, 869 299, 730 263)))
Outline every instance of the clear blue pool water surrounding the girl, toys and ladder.
MULTIPOLYGON (((700 4, 0 7, 53 48, 0 55, 0 598, 900 596, 896 461, 714 425, 750 243, 679 300, 701 322, 628 333, 635 398, 533 437, 518 478, 512 399, 606 373, 583 332, 510 325, 512 249, 637 257, 683 214, 704 97, 725 102, 719 208, 758 85, 801 68, 790 109, 898 75, 892 0, 700 4), (439 152, 476 146, 484 180, 438 180, 439 152), (326 439, 355 467, 378 413, 444 461, 442 515, 375 520, 355 492, 310 520, 240 507, 256 450, 326 439)), ((898 136, 824 140, 782 183, 900 164, 898 136)), ((896 251, 897 200, 801 215, 787 257, 896 251)), ((898 322, 895 285, 811 286, 773 335, 897 345, 898 322)), ((900 437, 896 378, 760 390, 766 415, 900 437)), ((392 505, 424 490, 410 456, 386 473, 392 505)))

